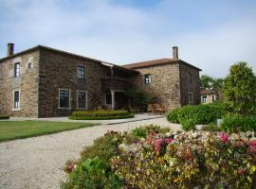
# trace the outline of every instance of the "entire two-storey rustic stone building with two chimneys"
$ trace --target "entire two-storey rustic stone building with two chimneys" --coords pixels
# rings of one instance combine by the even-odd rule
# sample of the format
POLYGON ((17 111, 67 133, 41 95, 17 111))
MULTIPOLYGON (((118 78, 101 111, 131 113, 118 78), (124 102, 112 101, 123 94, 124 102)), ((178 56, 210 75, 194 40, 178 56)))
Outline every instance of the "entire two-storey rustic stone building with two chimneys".
POLYGON ((174 58, 119 66, 38 45, 0 60, 0 114, 64 116, 78 110, 127 109, 126 91, 152 94, 168 109, 200 103, 199 71, 174 58))

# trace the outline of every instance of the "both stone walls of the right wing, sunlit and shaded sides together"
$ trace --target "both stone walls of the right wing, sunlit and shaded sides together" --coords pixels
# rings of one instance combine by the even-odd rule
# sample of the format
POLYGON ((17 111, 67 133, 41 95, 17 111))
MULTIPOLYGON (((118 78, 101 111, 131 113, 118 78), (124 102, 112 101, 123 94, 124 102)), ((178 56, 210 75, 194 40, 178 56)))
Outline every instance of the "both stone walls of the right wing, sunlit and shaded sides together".
POLYGON ((134 86, 151 94, 153 103, 165 104, 169 111, 184 105, 200 103, 198 69, 182 61, 134 69, 140 72, 134 79, 134 86), (144 76, 148 74, 151 75, 151 83, 146 84, 144 76))

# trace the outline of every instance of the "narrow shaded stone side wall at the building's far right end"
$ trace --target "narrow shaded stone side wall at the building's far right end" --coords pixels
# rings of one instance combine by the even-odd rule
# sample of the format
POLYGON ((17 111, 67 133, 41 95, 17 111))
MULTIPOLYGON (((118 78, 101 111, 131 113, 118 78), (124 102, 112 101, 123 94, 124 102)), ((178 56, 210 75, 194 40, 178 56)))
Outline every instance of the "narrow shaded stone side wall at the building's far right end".
POLYGON ((199 71, 190 65, 180 63, 181 106, 189 104, 192 93, 192 104, 200 104, 199 71))

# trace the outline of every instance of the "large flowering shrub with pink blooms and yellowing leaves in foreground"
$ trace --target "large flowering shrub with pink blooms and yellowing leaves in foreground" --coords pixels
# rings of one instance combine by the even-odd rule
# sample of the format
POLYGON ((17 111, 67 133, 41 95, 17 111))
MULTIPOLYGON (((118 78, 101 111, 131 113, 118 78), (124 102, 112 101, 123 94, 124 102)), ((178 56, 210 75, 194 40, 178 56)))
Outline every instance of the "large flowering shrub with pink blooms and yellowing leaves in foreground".
POLYGON ((112 168, 132 188, 253 188, 256 141, 225 132, 205 136, 151 132, 137 153, 113 157, 112 168))

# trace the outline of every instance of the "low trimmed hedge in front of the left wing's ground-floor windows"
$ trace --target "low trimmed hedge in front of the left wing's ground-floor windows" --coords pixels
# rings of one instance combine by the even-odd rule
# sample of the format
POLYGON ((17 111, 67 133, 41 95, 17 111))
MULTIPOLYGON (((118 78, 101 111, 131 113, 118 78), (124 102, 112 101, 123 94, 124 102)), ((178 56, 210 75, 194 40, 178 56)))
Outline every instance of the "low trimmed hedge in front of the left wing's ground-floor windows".
POLYGON ((73 112, 69 119, 75 120, 106 120, 106 119, 125 119, 132 118, 133 114, 128 111, 84 111, 73 112))

